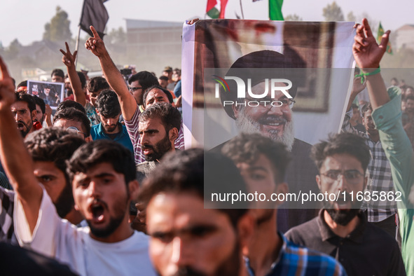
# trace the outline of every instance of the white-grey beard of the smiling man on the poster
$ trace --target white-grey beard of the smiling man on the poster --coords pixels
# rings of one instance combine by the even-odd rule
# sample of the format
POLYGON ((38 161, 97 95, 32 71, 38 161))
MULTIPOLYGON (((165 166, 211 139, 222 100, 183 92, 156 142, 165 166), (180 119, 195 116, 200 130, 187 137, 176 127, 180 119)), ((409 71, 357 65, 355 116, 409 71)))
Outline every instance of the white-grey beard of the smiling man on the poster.
POLYGON ((263 133, 260 130, 260 123, 257 123, 254 121, 251 117, 247 116, 244 112, 244 108, 240 110, 240 116, 236 118, 236 126, 237 128, 244 133, 259 133, 262 135, 265 135, 272 139, 273 141, 282 142, 287 146, 288 151, 291 151, 292 146, 294 146, 295 142, 295 133, 294 133, 294 122, 293 120, 287 121, 284 118, 280 118, 280 121, 284 121, 284 127, 282 134, 280 134, 280 131, 277 130, 270 130, 267 133, 263 133))

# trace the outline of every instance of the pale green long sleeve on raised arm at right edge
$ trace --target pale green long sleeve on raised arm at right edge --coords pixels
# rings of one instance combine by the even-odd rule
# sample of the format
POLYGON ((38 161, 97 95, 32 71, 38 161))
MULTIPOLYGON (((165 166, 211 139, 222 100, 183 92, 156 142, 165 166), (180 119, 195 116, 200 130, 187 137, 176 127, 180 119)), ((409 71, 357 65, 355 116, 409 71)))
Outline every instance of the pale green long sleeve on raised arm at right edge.
POLYGON ((395 86, 388 89, 391 101, 372 113, 380 132, 382 148, 391 165, 391 174, 397 194, 394 198, 399 214, 401 255, 407 275, 414 275, 414 153, 410 139, 401 122, 401 92, 395 86))

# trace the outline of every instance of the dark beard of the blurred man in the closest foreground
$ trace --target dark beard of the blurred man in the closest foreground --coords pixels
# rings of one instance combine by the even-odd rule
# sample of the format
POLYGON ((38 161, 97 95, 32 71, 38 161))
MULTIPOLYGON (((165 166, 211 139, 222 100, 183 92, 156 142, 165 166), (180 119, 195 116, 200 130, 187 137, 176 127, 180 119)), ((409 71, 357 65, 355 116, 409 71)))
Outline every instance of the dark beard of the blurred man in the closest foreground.
MULTIPOLYGON (((234 276, 240 274, 240 244, 236 240, 233 251, 226 260, 222 261, 219 267, 212 273, 212 275, 220 276, 234 276)), ((160 273, 158 272, 158 275, 160 273)), ((179 270, 172 276, 205 276, 205 272, 200 272, 191 268, 191 266, 186 265, 180 267, 179 270)))

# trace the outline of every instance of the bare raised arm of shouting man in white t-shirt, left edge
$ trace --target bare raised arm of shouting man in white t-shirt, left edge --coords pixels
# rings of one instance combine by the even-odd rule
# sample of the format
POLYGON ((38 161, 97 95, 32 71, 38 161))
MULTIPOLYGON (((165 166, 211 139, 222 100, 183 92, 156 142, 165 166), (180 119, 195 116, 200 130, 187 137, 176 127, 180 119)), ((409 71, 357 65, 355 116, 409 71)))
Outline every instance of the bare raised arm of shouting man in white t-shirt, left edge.
POLYGON ((32 158, 23 144, 11 113, 15 102, 13 81, 0 57, 0 159, 18 199, 22 202, 31 233, 36 226, 43 191, 33 174, 32 158))

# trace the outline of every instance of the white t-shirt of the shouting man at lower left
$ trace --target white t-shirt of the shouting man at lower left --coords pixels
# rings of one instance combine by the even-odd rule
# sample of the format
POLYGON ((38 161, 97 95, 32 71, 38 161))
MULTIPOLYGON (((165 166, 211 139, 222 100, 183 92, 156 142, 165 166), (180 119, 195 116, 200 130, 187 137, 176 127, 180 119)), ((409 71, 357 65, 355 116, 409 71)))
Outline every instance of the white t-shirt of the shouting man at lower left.
POLYGON ((148 236, 134 231, 121 242, 93 240, 89 227, 76 228, 57 216, 55 205, 45 190, 33 235, 17 198, 14 221, 20 246, 67 263, 80 275, 156 275, 149 258, 148 236))

